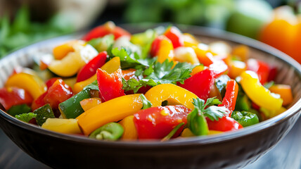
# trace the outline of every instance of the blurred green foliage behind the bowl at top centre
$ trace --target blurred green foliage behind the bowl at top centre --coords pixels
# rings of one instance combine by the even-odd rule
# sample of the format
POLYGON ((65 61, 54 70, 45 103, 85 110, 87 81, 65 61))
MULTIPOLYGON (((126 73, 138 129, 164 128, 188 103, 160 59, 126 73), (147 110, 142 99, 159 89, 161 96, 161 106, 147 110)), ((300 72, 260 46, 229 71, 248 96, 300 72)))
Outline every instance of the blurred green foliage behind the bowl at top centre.
POLYGON ((173 22, 224 27, 233 0, 129 0, 125 19, 130 23, 173 22))

